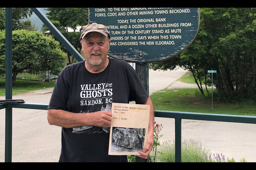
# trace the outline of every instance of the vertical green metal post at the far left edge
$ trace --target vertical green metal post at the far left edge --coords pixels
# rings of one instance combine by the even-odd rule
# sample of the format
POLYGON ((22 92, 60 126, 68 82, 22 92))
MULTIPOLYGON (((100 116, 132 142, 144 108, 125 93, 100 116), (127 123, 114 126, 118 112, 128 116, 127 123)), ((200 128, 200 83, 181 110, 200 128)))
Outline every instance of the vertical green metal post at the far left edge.
MULTIPOLYGON (((12 99, 12 9, 5 9, 5 98, 12 99)), ((5 109, 5 162, 11 162, 12 108, 5 109)))

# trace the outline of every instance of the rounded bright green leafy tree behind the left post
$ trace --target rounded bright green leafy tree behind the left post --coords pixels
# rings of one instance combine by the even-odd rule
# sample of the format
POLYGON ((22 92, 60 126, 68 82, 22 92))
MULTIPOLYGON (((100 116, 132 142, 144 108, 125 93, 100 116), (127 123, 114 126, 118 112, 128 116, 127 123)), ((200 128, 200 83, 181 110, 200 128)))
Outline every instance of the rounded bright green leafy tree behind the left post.
MULTIPOLYGON (((16 76, 21 72, 50 70, 58 75, 63 69, 66 53, 60 48, 59 42, 46 37, 39 31, 13 31, 13 76, 15 85, 16 76)), ((5 30, 0 31, 0 69, 3 73, 5 66, 5 30)))

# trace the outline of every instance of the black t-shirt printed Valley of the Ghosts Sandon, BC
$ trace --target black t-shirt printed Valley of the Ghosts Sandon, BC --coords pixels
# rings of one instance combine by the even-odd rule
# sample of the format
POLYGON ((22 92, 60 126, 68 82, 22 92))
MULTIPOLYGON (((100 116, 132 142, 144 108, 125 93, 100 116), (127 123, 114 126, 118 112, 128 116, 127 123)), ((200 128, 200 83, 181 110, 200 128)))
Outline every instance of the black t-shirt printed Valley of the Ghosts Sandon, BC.
MULTIPOLYGON (((109 58, 101 73, 90 73, 85 61, 66 66, 59 74, 48 109, 73 113, 110 111, 112 102, 142 104, 149 97, 126 61, 109 58)), ((108 155, 110 128, 62 128, 59 162, 127 162, 126 155, 108 155)))

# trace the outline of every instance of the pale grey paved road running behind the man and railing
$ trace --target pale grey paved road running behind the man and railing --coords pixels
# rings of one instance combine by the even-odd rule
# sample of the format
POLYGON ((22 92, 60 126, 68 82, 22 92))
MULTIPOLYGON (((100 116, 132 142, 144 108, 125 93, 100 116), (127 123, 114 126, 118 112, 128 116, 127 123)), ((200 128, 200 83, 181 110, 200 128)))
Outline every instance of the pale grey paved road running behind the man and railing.
MULTIPOLYGON (((177 83, 187 71, 149 70, 149 94, 164 88, 193 88, 191 84, 177 83)), ((197 88, 197 87, 196 87, 197 88)), ((26 103, 48 104, 52 88, 15 95, 26 103)), ((0 100, 5 96, 0 96, 0 100)), ((211 107, 211 106, 209 106, 211 107)), ((0 110, 0 162, 5 162, 5 109, 0 110)), ((58 162, 61 149, 61 128, 49 125, 47 111, 13 108, 12 162, 58 162)), ((173 141, 174 119, 155 118, 163 125, 161 141, 173 141)), ((182 120, 182 139, 199 141, 212 153, 224 154, 225 158, 246 158, 256 162, 256 125, 229 122, 182 120)))

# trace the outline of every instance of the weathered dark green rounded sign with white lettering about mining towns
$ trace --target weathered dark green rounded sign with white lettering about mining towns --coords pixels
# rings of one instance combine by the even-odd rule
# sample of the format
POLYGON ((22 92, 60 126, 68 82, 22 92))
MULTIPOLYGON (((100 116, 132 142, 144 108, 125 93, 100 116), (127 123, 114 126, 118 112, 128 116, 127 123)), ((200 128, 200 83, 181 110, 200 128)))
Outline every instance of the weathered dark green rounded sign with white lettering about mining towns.
POLYGON ((199 8, 89 8, 89 24, 111 35, 109 56, 134 63, 157 62, 181 53, 199 29, 199 8))

